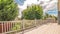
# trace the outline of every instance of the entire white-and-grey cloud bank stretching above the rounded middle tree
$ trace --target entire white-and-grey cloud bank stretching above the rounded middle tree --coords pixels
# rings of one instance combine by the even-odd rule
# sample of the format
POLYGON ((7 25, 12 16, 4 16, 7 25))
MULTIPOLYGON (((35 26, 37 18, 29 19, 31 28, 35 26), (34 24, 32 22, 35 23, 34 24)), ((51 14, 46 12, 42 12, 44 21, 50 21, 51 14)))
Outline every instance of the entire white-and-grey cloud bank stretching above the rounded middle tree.
POLYGON ((39 0, 39 1, 37 1, 37 0, 26 0, 24 2, 23 6, 18 5, 18 7, 21 8, 20 13, 22 10, 27 8, 27 5, 31 5, 32 3, 33 4, 40 4, 41 2, 43 2, 41 5, 43 7, 45 7, 43 9, 44 13, 48 10, 53 10, 54 8, 57 8, 57 2, 58 2, 57 0, 39 0))

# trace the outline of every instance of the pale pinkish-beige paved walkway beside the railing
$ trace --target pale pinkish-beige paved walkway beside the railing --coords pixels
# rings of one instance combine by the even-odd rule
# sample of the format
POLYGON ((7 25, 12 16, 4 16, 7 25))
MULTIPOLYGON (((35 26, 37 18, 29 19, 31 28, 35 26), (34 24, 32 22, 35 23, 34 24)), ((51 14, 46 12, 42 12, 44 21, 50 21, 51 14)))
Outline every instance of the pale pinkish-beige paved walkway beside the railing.
POLYGON ((60 25, 57 23, 49 23, 25 32, 24 34, 60 34, 60 25))

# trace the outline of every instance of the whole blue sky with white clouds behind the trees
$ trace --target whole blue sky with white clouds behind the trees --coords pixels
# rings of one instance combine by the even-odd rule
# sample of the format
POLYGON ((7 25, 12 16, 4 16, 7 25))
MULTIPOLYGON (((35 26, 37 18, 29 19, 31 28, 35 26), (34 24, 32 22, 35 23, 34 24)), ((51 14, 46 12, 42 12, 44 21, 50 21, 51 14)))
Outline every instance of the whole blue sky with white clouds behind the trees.
POLYGON ((52 14, 57 16, 57 2, 58 0, 15 0, 19 7, 19 13, 21 15, 21 11, 27 8, 27 5, 31 4, 39 4, 43 7, 44 13, 52 14))

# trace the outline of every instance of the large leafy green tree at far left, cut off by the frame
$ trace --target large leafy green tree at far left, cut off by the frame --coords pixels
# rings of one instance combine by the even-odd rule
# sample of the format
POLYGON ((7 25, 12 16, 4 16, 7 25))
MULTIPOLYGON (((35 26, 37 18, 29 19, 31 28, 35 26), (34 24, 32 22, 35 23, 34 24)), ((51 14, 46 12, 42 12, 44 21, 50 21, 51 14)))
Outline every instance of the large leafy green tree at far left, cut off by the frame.
POLYGON ((0 21, 14 20, 17 15, 18 7, 13 0, 0 0, 0 21))

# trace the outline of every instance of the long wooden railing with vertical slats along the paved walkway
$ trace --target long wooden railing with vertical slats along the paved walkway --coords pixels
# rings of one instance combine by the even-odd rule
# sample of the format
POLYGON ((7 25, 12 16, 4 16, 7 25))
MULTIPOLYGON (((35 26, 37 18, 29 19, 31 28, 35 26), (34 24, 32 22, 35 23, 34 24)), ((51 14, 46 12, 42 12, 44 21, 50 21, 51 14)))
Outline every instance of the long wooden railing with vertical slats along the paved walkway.
POLYGON ((0 21, 0 33, 21 32, 45 23, 55 23, 55 20, 0 21))

